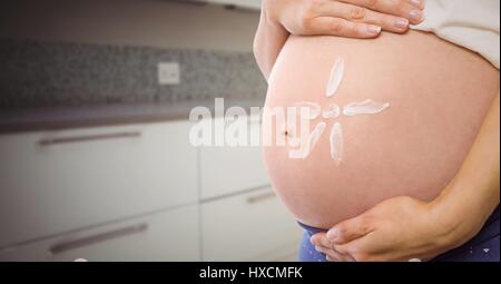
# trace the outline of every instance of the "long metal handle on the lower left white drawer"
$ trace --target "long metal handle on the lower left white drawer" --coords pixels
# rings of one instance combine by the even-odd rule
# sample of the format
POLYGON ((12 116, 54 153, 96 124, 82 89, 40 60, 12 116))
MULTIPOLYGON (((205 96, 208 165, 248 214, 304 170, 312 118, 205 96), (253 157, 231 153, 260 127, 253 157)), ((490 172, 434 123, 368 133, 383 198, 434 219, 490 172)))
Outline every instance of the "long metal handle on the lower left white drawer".
POLYGON ((125 227, 125 228, 118 228, 115 231, 105 232, 105 233, 97 234, 94 236, 87 236, 87 237, 56 244, 49 248, 49 252, 51 254, 60 254, 60 253, 71 251, 75 248, 79 248, 82 246, 88 246, 88 245, 101 243, 105 241, 110 241, 114 238, 119 238, 119 237, 124 237, 124 236, 128 236, 128 235, 132 235, 132 234, 138 234, 138 233, 145 232, 147 229, 148 229, 148 224, 143 223, 143 224, 138 224, 138 225, 134 225, 134 226, 129 226, 129 227, 125 227))

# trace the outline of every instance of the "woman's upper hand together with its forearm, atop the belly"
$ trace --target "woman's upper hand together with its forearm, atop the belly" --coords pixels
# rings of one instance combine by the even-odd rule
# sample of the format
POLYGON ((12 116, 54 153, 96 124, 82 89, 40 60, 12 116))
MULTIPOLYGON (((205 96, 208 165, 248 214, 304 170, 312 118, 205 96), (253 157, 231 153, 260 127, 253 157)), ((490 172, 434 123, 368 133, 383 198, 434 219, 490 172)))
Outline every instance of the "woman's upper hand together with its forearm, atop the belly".
POLYGON ((375 38, 424 19, 424 0, 263 0, 254 55, 268 79, 289 35, 375 38))

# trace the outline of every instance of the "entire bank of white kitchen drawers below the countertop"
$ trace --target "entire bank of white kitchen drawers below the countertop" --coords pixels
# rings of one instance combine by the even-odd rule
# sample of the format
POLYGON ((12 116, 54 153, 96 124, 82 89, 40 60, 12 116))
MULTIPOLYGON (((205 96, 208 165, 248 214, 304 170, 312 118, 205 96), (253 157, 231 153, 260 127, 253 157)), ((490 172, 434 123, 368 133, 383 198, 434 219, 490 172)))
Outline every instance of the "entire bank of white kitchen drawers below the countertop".
POLYGON ((261 147, 196 148, 190 127, 0 135, 0 261, 296 259, 261 147))

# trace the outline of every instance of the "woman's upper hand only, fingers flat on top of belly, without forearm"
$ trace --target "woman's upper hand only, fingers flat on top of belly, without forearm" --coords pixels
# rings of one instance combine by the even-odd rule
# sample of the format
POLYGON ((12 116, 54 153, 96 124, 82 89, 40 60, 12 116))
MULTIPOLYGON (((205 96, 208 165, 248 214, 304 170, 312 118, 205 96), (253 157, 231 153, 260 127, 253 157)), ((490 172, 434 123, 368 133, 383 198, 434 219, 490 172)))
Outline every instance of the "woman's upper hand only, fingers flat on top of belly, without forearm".
POLYGON ((264 0, 268 21, 292 35, 373 38, 404 32, 424 19, 424 0, 264 0))

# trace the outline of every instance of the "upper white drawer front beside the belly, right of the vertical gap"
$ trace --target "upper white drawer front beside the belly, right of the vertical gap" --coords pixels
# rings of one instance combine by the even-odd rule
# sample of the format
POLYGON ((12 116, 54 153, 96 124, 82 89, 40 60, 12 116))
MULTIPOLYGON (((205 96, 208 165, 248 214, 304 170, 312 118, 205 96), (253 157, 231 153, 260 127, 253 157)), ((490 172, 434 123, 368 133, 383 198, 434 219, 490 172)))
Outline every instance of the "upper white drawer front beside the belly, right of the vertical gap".
MULTIPOLYGON (((219 119, 219 118, 218 118, 219 119)), ((261 136, 261 125, 252 120, 254 136, 261 136)), ((236 193, 268 185, 259 146, 200 147, 202 198, 236 193)))

